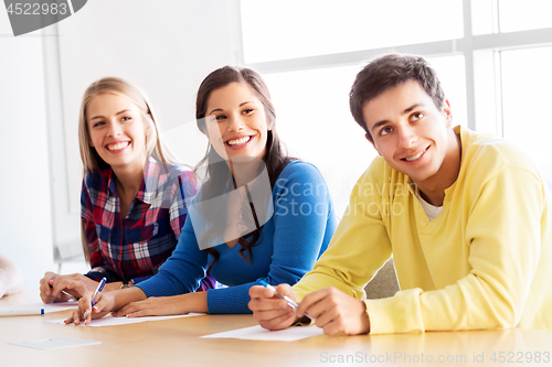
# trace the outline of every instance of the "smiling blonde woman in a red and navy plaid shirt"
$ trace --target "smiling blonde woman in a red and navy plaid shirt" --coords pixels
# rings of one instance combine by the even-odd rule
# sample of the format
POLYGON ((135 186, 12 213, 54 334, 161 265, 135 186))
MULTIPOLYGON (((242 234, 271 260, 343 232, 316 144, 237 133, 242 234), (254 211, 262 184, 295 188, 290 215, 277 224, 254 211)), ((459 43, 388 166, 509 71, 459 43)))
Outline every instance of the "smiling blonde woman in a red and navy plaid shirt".
MULTIPOLYGON (((46 272, 40 281, 44 303, 136 284, 157 273, 177 246, 197 192, 194 174, 178 164, 161 141, 146 95, 115 77, 85 91, 78 122, 84 165, 81 195, 86 274, 46 272)), ((210 278, 200 289, 213 287, 210 278)))

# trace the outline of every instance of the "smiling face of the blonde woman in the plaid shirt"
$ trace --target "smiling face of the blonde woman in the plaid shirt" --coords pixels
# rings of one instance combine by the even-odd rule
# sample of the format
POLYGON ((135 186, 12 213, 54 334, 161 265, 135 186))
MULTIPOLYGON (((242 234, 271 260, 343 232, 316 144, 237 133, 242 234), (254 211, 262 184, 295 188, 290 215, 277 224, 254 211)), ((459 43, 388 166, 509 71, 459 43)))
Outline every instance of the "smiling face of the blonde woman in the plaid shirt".
POLYGON ((86 123, 89 145, 113 169, 144 169, 147 128, 138 106, 117 95, 97 95, 86 105, 86 123))

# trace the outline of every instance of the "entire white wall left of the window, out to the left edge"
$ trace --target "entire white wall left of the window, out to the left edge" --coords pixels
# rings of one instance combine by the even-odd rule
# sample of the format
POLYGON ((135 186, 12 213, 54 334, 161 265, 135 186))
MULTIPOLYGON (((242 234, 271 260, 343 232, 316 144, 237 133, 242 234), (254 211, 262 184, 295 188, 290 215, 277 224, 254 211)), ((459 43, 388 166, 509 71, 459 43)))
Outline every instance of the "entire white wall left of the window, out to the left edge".
POLYGON ((0 11, 0 251, 30 287, 57 270, 54 247, 79 251, 77 116, 85 88, 104 76, 140 85, 171 149, 194 164, 206 143, 194 123, 195 93, 210 72, 236 63, 235 3, 95 0, 44 29, 47 36, 19 37, 9 36, 0 11))

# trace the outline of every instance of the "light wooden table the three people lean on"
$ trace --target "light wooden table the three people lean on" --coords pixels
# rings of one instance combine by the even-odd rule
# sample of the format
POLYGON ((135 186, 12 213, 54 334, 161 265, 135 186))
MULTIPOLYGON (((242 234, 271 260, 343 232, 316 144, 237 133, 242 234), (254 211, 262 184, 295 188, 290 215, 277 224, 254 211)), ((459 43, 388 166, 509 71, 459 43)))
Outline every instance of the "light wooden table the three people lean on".
MULTIPOLYGON (((36 293, 4 296, 0 306, 36 302, 36 293)), ((43 322, 70 313, 0 317, 0 366, 552 366, 552 332, 548 331, 323 335, 298 342, 257 342, 199 338, 256 325, 251 315, 205 315, 105 327, 43 322), (50 350, 8 344, 54 336, 102 344, 50 350), (526 359, 529 357, 531 363, 526 359)))

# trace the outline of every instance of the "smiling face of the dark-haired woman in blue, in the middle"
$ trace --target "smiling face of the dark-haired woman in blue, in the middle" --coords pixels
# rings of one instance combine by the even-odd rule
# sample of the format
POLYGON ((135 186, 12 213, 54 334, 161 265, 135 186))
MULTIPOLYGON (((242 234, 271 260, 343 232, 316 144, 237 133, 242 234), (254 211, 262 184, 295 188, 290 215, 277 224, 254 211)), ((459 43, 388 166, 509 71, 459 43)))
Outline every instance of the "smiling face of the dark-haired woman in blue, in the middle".
POLYGON ((231 83, 214 89, 205 118, 209 140, 219 155, 233 162, 238 158, 263 159, 269 123, 263 102, 247 84, 231 83))

